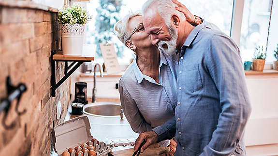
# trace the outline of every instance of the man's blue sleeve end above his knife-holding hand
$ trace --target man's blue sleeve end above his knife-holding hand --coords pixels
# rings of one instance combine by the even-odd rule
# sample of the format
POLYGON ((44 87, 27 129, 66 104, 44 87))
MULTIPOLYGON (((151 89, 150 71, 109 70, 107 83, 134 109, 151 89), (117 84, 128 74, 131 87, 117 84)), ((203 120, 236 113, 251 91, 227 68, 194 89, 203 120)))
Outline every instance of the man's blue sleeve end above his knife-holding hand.
POLYGON ((158 142, 166 139, 172 139, 176 134, 176 118, 173 117, 163 125, 153 128, 152 131, 158 135, 158 142))

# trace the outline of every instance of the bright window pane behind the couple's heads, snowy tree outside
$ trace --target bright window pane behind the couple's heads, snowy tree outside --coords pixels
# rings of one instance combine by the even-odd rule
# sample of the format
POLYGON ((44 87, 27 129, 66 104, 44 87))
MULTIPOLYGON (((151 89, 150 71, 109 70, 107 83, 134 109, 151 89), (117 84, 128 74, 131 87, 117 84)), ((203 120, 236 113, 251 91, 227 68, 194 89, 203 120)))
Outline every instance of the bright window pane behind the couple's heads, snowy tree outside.
MULTIPOLYGON (((140 11, 145 2, 146 0, 90 0, 90 3, 87 3, 87 9, 93 18, 88 23, 87 43, 98 44, 100 39, 102 39, 101 42, 111 41, 116 44, 119 63, 129 63, 130 59, 134 57, 133 51, 117 39, 117 36, 113 34, 112 27, 117 22, 115 18, 121 19, 130 10, 140 11), (101 25, 100 22, 102 22, 101 25), (106 32, 97 28, 108 25, 110 28, 107 28, 109 31, 106 32), (101 32, 96 32, 98 30, 101 32)), ((180 0, 180 2, 185 4, 192 14, 214 23, 223 32, 230 35, 233 0, 192 0, 190 2, 180 0)), ((97 52, 96 60, 103 62, 100 51, 97 52)))

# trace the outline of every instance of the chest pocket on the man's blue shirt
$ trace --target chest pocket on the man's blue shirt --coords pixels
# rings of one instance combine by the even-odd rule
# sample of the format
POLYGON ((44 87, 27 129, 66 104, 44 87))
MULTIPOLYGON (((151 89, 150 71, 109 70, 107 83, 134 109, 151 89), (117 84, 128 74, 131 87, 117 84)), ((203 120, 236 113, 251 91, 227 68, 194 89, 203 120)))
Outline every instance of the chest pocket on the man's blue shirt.
POLYGON ((184 89, 189 92, 195 92, 203 88, 201 72, 198 64, 185 67, 185 72, 183 74, 184 79, 182 81, 185 87, 184 89))

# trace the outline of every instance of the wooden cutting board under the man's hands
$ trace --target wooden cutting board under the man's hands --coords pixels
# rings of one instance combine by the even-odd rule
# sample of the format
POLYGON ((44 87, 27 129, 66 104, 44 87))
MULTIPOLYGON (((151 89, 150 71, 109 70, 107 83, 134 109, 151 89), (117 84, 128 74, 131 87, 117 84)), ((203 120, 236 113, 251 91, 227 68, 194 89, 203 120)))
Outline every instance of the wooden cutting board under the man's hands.
MULTIPOLYGON (((159 156, 170 151, 170 147, 147 148, 140 156, 159 156)), ((133 148, 111 152, 113 156, 132 156, 133 148)))

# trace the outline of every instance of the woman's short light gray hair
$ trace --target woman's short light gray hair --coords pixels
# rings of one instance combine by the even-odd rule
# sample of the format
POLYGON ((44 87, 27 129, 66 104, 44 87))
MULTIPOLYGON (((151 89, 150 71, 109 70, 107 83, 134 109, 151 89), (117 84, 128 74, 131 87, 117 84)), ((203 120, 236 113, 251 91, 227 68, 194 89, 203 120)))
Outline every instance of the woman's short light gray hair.
MULTIPOLYGON (((135 16, 141 16, 142 14, 140 12, 129 12, 127 15, 125 15, 121 20, 119 20, 115 26, 114 30, 118 37, 118 39, 125 44, 125 42, 130 38, 130 35, 132 32, 130 32, 127 28, 128 23, 130 19, 132 19, 135 16)), ((126 45, 126 44, 125 44, 126 45)))

